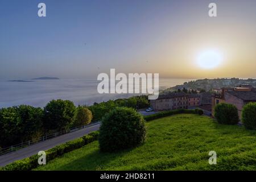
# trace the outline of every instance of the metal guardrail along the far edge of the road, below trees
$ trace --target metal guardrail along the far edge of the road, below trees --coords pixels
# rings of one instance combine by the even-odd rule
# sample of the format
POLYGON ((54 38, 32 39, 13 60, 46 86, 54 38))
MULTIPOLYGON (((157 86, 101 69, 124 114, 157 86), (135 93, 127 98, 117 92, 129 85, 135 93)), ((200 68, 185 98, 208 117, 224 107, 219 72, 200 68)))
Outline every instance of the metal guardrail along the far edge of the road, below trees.
POLYGON ((98 123, 100 123, 100 121, 92 122, 89 125, 73 127, 71 129, 68 129, 68 130, 63 130, 63 131, 59 131, 59 132, 56 132, 56 133, 52 133, 52 134, 40 137, 38 140, 35 140, 35 141, 30 140, 30 141, 27 141, 27 142, 22 142, 22 143, 19 143, 19 144, 15 144, 15 145, 10 146, 10 147, 5 147, 5 148, 2 148, 0 150, 0 155, 5 155, 5 154, 8 154, 8 153, 17 151, 21 148, 32 146, 33 144, 36 144, 36 143, 45 142, 46 140, 56 138, 56 137, 59 137, 61 135, 65 135, 65 134, 68 134, 68 133, 72 133, 74 131, 82 130, 82 129, 85 129, 86 127, 97 125, 98 123))

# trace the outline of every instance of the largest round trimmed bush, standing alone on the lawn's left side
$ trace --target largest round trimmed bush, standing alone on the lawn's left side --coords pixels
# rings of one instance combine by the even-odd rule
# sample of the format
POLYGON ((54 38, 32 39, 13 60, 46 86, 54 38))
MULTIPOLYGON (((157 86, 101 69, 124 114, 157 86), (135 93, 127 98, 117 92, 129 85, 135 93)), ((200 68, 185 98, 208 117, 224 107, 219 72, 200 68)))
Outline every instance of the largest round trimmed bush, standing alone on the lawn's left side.
POLYGON ((141 114, 134 109, 117 107, 102 118, 100 150, 120 151, 138 146, 146 139, 146 126, 141 114))

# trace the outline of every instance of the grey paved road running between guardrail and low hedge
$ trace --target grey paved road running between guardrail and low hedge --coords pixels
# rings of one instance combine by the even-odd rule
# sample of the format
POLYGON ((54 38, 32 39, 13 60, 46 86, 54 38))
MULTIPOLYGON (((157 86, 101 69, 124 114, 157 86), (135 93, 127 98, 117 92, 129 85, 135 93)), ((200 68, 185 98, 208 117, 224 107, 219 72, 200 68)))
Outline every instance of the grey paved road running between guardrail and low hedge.
POLYGON ((62 135, 60 137, 56 137, 53 139, 49 139, 45 142, 34 144, 30 147, 22 148, 18 151, 12 152, 10 154, 1 155, 0 156, 0 167, 6 166, 6 164, 9 164, 11 162, 14 162, 15 160, 20 160, 24 158, 28 158, 29 156, 38 154, 39 151, 46 151, 52 147, 55 147, 59 144, 66 143, 70 140, 80 138, 84 136, 85 134, 88 134, 92 131, 96 131, 100 128, 100 124, 86 127, 85 129, 74 131, 69 134, 62 135))

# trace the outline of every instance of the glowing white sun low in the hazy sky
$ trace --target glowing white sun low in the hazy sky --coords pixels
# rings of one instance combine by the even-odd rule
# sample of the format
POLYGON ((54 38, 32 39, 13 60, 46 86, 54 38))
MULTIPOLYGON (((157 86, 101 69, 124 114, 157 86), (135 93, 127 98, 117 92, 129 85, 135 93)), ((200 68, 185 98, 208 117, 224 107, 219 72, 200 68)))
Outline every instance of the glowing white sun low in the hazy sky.
POLYGON ((203 69, 213 69, 221 64, 222 56, 216 50, 203 51, 197 56, 197 64, 203 69))

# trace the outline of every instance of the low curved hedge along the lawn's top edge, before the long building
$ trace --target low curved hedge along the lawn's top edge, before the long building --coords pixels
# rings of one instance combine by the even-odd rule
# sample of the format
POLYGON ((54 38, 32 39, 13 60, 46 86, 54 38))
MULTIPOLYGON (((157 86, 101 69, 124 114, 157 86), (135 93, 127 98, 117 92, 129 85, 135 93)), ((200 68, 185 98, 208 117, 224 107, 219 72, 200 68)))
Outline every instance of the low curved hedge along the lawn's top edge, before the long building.
POLYGON ((177 110, 170 110, 170 111, 162 111, 156 114, 151 114, 151 115, 146 115, 144 116, 144 119, 146 121, 151 121, 154 119, 158 119, 158 118, 163 118, 163 117, 167 117, 170 115, 175 115, 175 114, 197 114, 197 112, 194 109, 177 109, 177 110))

